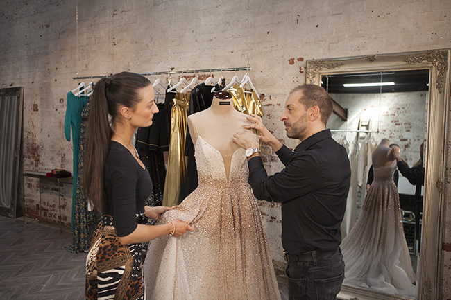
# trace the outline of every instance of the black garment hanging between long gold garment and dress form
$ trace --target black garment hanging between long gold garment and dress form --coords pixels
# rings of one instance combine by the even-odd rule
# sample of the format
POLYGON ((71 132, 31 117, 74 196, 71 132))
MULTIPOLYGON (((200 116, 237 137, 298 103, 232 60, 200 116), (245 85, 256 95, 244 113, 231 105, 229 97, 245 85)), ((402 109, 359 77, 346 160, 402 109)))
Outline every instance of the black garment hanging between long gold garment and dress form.
MULTIPOLYGON (((190 114, 195 114, 196 112, 201 112, 212 105, 213 95, 212 88, 215 87, 215 91, 220 91, 223 87, 219 85, 205 85, 201 83, 192 89, 191 96, 189 98, 189 109, 188 116, 190 114)), ((197 177, 197 166, 196 160, 194 159, 194 143, 187 130, 187 137, 185 140, 185 156, 187 159, 187 173, 182 181, 180 182, 180 195, 178 202, 182 202, 189 194, 192 193, 197 188, 198 177, 197 177)))

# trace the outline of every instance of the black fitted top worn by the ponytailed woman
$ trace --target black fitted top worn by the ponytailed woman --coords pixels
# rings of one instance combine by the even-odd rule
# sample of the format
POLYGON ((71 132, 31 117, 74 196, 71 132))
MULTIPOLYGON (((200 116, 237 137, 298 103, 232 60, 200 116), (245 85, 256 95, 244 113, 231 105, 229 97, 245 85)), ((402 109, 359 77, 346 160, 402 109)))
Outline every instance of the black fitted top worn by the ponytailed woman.
POLYGON ((103 171, 106 205, 104 212, 114 219, 117 236, 128 236, 137 227, 136 214, 152 193, 147 170, 123 145, 110 141, 103 171))

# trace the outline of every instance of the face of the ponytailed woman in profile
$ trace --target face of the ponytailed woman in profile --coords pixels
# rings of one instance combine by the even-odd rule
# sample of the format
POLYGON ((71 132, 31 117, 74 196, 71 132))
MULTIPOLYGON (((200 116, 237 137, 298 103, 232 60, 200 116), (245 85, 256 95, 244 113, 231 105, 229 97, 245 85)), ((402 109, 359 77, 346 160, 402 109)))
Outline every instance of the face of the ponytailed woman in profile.
POLYGON ((130 122, 136 127, 148 127, 152 125, 153 115, 158 113, 155 103, 155 92, 152 85, 139 89, 141 100, 137 103, 131 114, 130 122))

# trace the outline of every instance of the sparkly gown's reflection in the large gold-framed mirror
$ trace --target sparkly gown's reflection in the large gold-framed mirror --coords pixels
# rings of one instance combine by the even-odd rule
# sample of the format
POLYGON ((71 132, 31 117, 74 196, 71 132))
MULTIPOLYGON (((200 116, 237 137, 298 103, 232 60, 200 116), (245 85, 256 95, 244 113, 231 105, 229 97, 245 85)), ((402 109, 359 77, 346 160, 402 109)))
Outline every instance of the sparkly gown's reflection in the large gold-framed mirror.
POLYGON ((366 193, 359 219, 341 243, 346 264, 343 284, 416 297, 416 276, 393 182, 396 168, 396 161, 374 168, 374 181, 366 193))

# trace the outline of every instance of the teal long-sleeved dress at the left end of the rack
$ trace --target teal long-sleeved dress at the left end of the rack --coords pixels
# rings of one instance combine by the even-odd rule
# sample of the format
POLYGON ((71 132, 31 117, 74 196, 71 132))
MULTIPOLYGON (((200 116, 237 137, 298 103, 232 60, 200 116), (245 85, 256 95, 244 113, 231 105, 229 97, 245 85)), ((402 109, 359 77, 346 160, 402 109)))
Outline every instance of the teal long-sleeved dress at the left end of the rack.
POLYGON ((74 187, 72 188, 72 231, 74 231, 74 212, 75 212, 75 199, 76 199, 76 186, 78 179, 78 156, 80 155, 80 130, 81 130, 81 112, 87 103, 89 96, 74 96, 71 91, 67 93, 67 108, 65 116, 65 136, 67 141, 71 140, 74 145, 74 187))

